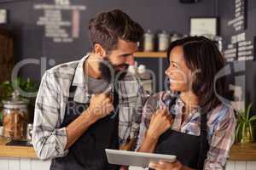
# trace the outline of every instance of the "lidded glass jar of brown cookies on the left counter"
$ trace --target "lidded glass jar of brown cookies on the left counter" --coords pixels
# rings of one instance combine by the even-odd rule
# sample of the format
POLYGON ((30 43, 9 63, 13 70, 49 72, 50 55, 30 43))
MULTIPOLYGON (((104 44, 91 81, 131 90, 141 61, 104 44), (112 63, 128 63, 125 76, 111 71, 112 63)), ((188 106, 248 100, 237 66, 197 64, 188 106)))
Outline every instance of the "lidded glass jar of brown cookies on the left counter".
POLYGON ((26 127, 29 120, 28 100, 21 99, 15 91, 11 99, 3 100, 3 136, 7 139, 26 139, 26 127))

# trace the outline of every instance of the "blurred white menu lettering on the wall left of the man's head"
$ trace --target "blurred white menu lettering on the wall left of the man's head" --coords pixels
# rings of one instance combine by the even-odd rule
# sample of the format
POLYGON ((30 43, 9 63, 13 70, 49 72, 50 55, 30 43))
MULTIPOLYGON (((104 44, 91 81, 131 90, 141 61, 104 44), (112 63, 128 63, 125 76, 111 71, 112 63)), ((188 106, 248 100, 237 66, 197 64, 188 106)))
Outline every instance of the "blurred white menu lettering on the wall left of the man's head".
POLYGON ((44 26, 44 36, 52 38, 53 42, 73 42, 79 37, 80 11, 85 9, 86 6, 72 5, 69 0, 34 4, 34 10, 44 11, 37 25, 44 26))

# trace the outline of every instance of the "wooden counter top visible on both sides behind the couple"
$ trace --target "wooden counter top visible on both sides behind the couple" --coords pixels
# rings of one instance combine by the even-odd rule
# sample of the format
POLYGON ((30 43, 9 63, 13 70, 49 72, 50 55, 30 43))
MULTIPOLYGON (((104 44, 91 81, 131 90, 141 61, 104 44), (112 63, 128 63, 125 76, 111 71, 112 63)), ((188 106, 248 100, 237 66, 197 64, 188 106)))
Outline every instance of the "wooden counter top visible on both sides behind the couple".
MULTIPOLYGON (((7 139, 0 137, 0 157, 20 157, 38 159, 32 146, 5 145, 7 139)), ((256 143, 234 144, 230 150, 230 161, 256 161, 256 143)))

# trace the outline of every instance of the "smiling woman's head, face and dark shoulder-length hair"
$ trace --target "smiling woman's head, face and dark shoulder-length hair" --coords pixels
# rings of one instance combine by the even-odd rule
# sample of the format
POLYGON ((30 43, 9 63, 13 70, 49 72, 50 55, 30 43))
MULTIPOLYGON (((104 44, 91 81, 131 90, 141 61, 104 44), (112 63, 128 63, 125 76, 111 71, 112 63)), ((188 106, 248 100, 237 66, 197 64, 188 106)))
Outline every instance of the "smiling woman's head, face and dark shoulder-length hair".
POLYGON ((214 43, 205 37, 188 37, 173 42, 167 54, 171 90, 192 92, 206 110, 216 107, 220 101, 215 94, 224 96, 225 92, 224 78, 214 82, 214 77, 224 67, 224 58, 214 43))

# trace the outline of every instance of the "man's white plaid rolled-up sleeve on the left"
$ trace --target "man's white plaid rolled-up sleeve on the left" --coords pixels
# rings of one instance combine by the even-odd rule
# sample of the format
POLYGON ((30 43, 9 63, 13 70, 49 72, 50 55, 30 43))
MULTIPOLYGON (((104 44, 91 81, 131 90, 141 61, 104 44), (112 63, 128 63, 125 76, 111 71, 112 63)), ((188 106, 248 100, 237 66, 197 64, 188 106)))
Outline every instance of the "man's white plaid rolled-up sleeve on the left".
POLYGON ((35 103, 32 144, 42 160, 66 156, 66 127, 61 127, 61 89, 54 72, 46 71, 35 103))

